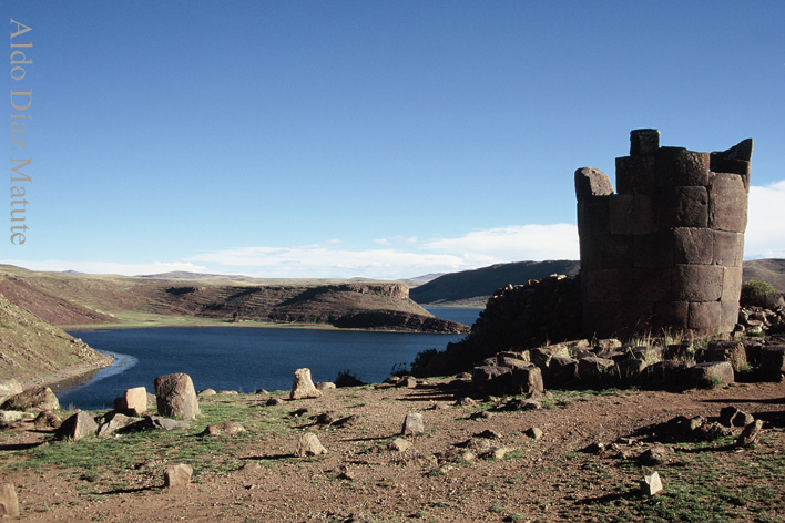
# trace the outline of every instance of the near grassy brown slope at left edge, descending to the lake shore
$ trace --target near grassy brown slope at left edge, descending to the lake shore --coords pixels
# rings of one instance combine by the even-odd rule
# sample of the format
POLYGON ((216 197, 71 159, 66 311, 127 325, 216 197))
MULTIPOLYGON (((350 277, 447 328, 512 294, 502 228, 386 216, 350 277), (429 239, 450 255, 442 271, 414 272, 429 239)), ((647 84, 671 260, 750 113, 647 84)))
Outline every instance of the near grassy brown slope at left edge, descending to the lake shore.
POLYGON ((0 379, 49 382, 63 371, 83 373, 111 362, 0 295, 0 379))

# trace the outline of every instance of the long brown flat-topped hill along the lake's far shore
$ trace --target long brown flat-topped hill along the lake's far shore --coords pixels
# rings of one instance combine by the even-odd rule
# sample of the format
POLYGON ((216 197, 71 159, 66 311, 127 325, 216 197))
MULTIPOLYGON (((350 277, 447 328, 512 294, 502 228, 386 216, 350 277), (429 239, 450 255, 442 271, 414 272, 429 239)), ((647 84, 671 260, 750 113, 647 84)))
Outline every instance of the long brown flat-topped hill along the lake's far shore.
POLYGON ((61 326, 258 322, 463 332, 409 299, 401 283, 149 278, 0 266, 0 291, 61 326))

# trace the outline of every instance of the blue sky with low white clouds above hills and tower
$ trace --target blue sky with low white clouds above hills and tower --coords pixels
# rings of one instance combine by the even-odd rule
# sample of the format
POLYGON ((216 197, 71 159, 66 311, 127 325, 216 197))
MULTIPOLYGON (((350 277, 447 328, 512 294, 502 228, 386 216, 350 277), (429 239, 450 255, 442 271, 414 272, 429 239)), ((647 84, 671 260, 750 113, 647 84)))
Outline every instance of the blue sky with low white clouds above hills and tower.
POLYGON ((2 8, 32 28, 7 89, 33 91, 33 181, 0 263, 401 278, 577 259, 573 173, 613 180, 640 127, 693 151, 752 136, 746 257, 785 257, 782 1, 2 8))

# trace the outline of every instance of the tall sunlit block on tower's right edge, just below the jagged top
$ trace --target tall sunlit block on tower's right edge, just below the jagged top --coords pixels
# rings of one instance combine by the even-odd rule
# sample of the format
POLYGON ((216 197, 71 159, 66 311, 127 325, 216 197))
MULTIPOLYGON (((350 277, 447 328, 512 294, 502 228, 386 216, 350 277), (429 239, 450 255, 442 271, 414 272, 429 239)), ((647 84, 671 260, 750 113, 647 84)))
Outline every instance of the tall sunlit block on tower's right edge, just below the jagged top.
POLYGON ((715 230, 744 233, 747 227, 747 193, 741 176, 727 173, 712 176, 708 226, 715 230))

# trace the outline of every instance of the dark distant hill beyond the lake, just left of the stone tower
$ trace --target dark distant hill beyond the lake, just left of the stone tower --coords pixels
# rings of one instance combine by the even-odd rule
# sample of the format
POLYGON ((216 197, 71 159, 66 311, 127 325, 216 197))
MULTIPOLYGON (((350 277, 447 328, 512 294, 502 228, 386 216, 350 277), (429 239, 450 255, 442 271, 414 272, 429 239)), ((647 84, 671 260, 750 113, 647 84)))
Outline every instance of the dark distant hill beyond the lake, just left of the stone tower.
POLYGON ((574 276, 580 267, 580 262, 570 259, 498 264, 439 276, 415 287, 409 295, 420 305, 485 307, 493 291, 508 284, 526 284, 552 274, 574 276))

